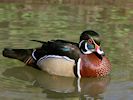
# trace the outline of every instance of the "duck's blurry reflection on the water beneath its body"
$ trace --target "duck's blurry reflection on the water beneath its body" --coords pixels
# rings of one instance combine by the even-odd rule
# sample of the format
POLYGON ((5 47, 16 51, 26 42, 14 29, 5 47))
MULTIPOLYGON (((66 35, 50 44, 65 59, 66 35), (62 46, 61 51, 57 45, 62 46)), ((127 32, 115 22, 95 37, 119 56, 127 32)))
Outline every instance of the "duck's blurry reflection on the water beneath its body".
POLYGON ((87 98, 103 99, 102 93, 110 82, 110 76, 102 78, 68 78, 53 76, 31 67, 15 67, 3 72, 6 77, 31 81, 41 87, 47 98, 87 98))

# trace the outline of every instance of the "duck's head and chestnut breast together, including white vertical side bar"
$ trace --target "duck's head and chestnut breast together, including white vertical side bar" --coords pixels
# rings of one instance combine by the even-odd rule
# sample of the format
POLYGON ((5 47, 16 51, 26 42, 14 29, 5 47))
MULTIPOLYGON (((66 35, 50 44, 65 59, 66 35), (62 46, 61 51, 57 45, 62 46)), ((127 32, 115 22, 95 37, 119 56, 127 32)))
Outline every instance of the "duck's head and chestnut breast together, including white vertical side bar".
POLYGON ((101 77, 110 73, 111 64, 101 50, 100 42, 100 36, 95 31, 87 30, 81 34, 78 77, 101 77))

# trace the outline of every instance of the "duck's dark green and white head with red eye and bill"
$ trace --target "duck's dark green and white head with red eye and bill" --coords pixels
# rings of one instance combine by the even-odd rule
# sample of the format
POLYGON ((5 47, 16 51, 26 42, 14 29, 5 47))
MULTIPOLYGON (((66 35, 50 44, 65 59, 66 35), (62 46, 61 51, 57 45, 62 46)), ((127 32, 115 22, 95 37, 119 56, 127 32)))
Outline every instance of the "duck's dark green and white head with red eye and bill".
POLYGON ((83 54, 91 54, 96 52, 99 55, 104 55, 100 47, 100 36, 92 30, 84 31, 80 36, 79 48, 83 54))

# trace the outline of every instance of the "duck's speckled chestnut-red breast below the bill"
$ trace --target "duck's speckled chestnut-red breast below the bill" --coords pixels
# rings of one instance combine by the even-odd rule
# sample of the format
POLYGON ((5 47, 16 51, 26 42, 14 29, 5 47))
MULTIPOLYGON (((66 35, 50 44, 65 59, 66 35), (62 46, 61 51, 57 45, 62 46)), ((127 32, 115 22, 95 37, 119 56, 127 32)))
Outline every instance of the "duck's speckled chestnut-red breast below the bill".
POLYGON ((100 59, 95 53, 81 55, 80 74, 81 77, 99 77, 110 73, 111 64, 107 57, 100 59))

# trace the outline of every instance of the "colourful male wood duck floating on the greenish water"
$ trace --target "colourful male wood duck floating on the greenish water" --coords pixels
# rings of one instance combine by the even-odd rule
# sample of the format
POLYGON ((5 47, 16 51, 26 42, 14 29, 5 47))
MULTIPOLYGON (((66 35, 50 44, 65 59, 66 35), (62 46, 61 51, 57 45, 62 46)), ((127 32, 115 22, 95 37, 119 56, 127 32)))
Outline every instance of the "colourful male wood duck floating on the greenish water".
POLYGON ((79 43, 66 40, 38 41, 35 49, 5 48, 3 56, 18 59, 52 75, 66 77, 101 77, 111 71, 111 64, 100 47, 100 36, 93 30, 81 33, 79 43))

